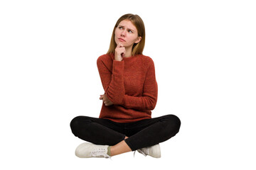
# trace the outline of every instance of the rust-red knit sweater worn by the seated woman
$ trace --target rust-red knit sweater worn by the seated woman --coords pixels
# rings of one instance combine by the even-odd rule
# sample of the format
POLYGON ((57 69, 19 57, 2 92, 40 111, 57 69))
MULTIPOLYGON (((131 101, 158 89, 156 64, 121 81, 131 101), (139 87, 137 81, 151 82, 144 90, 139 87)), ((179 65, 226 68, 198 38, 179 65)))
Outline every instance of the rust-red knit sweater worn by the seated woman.
POLYGON ((100 118, 117 123, 151 118, 157 101, 157 83, 150 57, 135 55, 119 62, 112 54, 102 55, 97 59, 97 68, 105 94, 114 103, 102 103, 100 118))

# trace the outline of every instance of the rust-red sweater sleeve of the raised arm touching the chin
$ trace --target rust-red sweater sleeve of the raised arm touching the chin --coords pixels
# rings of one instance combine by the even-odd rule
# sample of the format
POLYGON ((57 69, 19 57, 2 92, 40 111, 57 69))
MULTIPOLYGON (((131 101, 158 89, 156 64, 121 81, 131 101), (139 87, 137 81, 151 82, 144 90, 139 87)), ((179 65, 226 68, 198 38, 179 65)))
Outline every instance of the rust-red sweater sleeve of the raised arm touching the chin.
POLYGON ((98 58, 97 68, 107 98, 114 104, 121 104, 124 98, 124 62, 112 61, 112 72, 98 58))

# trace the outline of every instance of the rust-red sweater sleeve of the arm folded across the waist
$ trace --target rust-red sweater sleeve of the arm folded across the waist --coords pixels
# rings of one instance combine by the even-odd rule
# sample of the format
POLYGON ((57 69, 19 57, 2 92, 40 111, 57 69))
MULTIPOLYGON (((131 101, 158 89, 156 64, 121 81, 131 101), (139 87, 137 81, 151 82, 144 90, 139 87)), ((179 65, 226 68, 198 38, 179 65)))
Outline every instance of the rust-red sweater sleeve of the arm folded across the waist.
POLYGON ((124 95, 122 106, 125 108, 137 109, 139 111, 154 110, 157 101, 157 93, 158 87, 156 83, 154 62, 151 60, 149 69, 146 72, 142 96, 124 95))

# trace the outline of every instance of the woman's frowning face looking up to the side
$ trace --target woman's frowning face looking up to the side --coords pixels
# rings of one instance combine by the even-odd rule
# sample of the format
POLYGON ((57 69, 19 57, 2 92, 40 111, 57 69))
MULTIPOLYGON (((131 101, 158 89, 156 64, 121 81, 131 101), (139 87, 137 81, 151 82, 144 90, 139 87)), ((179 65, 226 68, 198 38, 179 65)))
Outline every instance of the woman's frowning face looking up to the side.
POLYGON ((119 23, 114 31, 114 40, 117 43, 122 43, 124 47, 132 47, 134 43, 142 40, 138 37, 137 28, 129 20, 123 20, 119 23))

